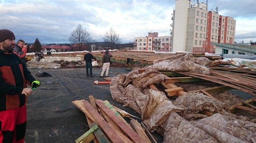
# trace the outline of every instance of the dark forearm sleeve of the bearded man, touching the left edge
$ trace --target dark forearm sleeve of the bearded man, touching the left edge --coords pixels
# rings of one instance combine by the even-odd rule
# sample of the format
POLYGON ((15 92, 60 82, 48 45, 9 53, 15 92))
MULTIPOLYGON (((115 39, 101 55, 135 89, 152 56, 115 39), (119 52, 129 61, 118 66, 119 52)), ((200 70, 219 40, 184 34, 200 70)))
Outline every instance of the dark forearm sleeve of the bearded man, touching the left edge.
POLYGON ((23 88, 22 87, 16 87, 11 84, 7 84, 3 79, 2 75, 0 73, 0 90, 3 92, 3 94, 7 95, 21 95, 23 88))

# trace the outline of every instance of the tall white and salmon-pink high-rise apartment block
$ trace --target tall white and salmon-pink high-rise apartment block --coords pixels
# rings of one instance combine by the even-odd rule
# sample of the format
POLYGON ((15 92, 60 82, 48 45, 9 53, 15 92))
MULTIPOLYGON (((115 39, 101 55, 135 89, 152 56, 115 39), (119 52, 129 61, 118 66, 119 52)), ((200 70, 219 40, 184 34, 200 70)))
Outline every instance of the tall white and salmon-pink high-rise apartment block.
POLYGON ((216 11, 207 11, 208 5, 190 0, 176 0, 173 13, 172 52, 215 53, 210 43, 234 43, 235 22, 216 11), (187 5, 187 7, 186 7, 187 5))

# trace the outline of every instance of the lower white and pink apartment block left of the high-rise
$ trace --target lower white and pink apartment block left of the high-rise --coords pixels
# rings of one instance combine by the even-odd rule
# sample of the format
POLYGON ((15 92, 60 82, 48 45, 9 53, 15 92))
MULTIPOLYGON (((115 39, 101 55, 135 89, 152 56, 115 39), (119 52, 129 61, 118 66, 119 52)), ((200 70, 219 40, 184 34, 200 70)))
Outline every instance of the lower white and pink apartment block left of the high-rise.
POLYGON ((148 33, 146 37, 137 37, 134 40, 135 50, 165 51, 171 50, 171 36, 158 37, 158 33, 148 33))

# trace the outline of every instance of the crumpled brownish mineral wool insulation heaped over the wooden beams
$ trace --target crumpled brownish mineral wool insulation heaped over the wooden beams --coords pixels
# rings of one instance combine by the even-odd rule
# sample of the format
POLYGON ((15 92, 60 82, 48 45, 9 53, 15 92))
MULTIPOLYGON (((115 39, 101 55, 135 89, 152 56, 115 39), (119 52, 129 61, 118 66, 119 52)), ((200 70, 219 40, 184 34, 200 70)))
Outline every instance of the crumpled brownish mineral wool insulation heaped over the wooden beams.
POLYGON ((150 84, 161 83, 167 77, 156 67, 169 71, 168 65, 173 71, 183 69, 208 74, 207 67, 194 63, 189 55, 156 64, 147 67, 141 74, 136 69, 119 75, 110 84, 112 98, 141 114, 142 122, 150 132, 163 135, 165 143, 256 143, 256 124, 239 120, 234 114, 228 113, 226 103, 201 93, 183 95, 171 102, 163 92, 149 88, 150 84), (160 63, 164 64, 164 68, 160 63), (207 117, 201 114, 203 110, 216 114, 207 117))

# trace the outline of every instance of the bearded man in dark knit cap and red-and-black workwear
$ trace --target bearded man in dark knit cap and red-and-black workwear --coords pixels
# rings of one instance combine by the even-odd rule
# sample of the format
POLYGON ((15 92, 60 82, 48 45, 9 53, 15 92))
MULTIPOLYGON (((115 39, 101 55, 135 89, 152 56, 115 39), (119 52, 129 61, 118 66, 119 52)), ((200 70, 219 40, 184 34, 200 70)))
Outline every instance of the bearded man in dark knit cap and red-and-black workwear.
POLYGON ((13 32, 0 29, 0 143, 24 143, 27 97, 40 86, 13 53, 14 40, 13 32))

